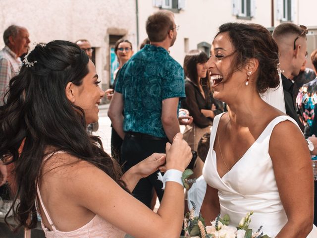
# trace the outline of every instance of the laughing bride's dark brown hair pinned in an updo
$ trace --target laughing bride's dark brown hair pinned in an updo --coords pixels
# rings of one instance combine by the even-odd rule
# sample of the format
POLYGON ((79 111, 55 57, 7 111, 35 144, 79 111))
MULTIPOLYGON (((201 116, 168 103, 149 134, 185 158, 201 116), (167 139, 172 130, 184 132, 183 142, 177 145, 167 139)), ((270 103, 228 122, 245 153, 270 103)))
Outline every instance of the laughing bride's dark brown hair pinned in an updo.
POLYGON ((235 48, 235 57, 232 63, 233 72, 240 70, 251 58, 259 60, 258 78, 256 88, 259 93, 264 93, 268 88, 279 85, 277 73, 278 46, 271 33, 259 24, 254 23, 225 23, 219 27, 219 34, 228 32, 230 41, 235 48))

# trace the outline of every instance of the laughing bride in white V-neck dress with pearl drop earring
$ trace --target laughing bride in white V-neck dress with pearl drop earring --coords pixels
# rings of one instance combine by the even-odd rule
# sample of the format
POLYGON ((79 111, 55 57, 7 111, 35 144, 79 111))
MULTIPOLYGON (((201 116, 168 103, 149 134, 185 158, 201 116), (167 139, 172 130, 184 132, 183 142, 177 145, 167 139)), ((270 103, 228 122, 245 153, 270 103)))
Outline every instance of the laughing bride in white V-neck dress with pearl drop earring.
MULTIPOLYGON (((303 53, 305 54, 305 53, 303 53)), ((203 175, 205 221, 220 213, 278 238, 317 238, 310 153, 296 122, 260 94, 278 86, 278 48, 257 24, 227 23, 211 46, 213 97, 228 105, 215 117, 203 175), (312 231, 313 229, 313 231, 312 231)))

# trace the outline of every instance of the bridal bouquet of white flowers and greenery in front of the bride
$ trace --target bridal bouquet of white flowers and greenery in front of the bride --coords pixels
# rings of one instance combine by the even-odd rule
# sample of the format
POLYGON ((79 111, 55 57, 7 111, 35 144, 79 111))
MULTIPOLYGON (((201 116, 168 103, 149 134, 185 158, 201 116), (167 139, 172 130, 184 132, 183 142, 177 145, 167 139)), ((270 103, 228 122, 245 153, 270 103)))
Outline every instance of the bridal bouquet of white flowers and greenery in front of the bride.
POLYGON ((227 214, 223 218, 220 218, 219 214, 211 222, 211 226, 206 226, 201 214, 198 217, 194 217, 196 207, 193 202, 192 204, 193 208, 185 215, 184 219, 185 238, 269 238, 261 232, 262 226, 256 232, 249 229, 250 216, 253 211, 247 213, 236 228, 228 226, 230 217, 227 214))

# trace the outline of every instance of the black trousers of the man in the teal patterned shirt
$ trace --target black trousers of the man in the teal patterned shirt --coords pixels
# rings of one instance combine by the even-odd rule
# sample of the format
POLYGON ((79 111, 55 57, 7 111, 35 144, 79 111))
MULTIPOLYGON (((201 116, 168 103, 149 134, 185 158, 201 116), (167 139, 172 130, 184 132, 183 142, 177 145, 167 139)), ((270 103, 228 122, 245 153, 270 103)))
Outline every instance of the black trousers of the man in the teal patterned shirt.
MULTIPOLYGON (((168 142, 167 138, 153 139, 146 134, 126 133, 121 147, 122 161, 125 161, 123 170, 127 171, 155 152, 165 153, 166 142, 168 142)), ((152 188, 155 188, 159 201, 161 201, 163 197, 162 185, 162 182, 158 180, 157 171, 147 178, 140 179, 132 194, 135 198, 150 207, 152 188)))

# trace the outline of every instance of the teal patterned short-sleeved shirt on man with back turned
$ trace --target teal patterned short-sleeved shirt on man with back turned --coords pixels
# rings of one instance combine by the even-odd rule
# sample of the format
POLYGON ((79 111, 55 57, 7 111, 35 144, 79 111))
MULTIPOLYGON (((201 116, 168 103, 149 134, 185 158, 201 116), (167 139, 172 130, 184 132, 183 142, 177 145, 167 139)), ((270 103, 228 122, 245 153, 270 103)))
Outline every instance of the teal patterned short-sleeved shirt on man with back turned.
POLYGON ((123 65, 117 78, 115 91, 124 100, 123 130, 166 138, 162 101, 185 97, 182 66, 164 48, 146 45, 123 65))

